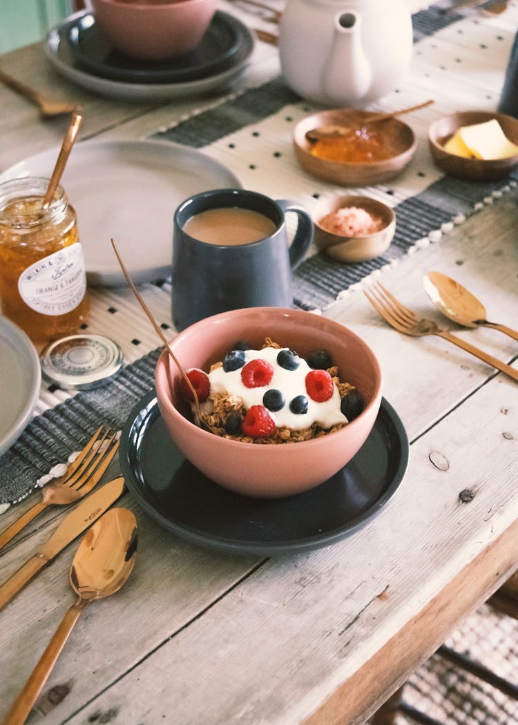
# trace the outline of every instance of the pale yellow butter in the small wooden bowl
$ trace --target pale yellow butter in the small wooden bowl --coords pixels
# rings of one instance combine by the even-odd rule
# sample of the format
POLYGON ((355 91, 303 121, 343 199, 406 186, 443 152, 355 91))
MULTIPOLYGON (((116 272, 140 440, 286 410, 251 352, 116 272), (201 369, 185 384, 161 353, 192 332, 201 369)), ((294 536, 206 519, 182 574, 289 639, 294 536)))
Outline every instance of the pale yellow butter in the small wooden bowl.
POLYGON ((444 146, 450 154, 475 159, 506 159, 518 154, 518 146, 503 133, 496 118, 461 126, 444 146))

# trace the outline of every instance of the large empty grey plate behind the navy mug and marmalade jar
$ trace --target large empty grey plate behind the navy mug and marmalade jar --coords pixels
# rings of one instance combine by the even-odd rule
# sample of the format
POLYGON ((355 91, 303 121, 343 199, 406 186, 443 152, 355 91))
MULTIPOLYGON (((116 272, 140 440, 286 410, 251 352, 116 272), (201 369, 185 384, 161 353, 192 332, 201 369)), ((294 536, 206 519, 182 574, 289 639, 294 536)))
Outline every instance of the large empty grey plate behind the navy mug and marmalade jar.
MULTIPOLYGON (((0 182, 52 173, 59 149, 31 156, 0 182)), ((188 196, 211 188, 242 188, 234 173, 195 149, 170 141, 83 141, 62 176, 78 215, 89 284, 126 284, 113 238, 135 282, 170 276, 173 215, 188 196)))

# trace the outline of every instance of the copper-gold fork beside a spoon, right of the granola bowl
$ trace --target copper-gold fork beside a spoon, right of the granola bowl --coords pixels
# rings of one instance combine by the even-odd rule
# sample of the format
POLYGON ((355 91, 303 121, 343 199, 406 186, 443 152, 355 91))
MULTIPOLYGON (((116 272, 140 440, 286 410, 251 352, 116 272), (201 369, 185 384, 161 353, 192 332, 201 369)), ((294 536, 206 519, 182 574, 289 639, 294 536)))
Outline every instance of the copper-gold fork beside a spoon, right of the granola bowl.
POLYGON ((446 330, 441 330, 434 320, 418 318, 414 315, 414 312, 408 310, 408 307, 401 305, 381 283, 374 283, 371 286, 370 292, 364 291, 363 294, 365 294, 372 307, 374 307, 374 310, 377 310, 382 318, 387 320, 387 323, 399 332, 414 337, 422 337, 424 335, 437 335, 438 337, 442 337, 449 342, 453 342, 457 347, 466 350, 466 352, 470 352, 480 360, 483 360, 484 363, 488 363, 493 368, 501 370, 502 373, 506 373, 506 375, 518 382, 518 370, 511 368, 511 365, 502 363, 497 357, 488 355, 487 352, 483 352, 478 347, 469 344, 469 342, 465 342, 460 337, 456 337, 446 330))

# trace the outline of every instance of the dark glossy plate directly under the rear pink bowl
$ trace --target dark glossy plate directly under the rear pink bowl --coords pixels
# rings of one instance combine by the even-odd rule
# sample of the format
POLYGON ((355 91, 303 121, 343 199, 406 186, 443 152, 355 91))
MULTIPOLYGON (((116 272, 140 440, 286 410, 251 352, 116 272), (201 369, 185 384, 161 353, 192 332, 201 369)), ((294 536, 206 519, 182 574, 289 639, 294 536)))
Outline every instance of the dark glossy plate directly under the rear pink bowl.
POLYGON ((114 49, 91 12, 70 20, 63 32, 67 34, 70 51, 84 70, 128 83, 181 83, 207 78, 240 62, 250 42, 246 26, 221 11, 215 13, 196 49, 175 59, 156 62, 133 59, 114 49))

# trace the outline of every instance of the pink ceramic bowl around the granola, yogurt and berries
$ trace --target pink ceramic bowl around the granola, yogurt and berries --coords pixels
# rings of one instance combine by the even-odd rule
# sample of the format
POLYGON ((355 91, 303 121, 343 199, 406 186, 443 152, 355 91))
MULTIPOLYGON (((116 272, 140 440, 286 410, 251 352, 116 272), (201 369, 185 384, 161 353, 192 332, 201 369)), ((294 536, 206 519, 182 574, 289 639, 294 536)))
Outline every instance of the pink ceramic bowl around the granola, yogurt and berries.
POLYGON ((171 347, 184 370, 209 370, 238 340, 258 349, 266 337, 301 357, 327 349, 342 380, 363 396, 363 412, 340 431, 310 441, 244 443, 215 436, 191 422, 189 407, 178 393, 181 376, 167 351, 155 373, 160 413, 181 452, 221 486, 259 498, 298 494, 340 471, 371 432, 382 398, 382 373, 372 350, 348 328, 311 312, 279 307, 223 312, 186 328, 171 347))

